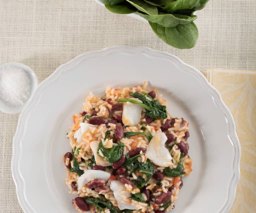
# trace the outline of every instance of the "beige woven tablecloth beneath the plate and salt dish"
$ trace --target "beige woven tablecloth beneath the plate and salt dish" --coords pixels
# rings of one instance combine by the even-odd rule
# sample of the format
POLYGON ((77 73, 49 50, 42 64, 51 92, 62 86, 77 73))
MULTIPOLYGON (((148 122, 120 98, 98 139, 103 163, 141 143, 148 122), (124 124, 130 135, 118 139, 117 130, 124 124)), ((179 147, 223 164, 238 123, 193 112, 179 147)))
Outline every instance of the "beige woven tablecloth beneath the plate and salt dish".
MULTIPOLYGON (((255 70, 255 12, 255 0, 210 0, 197 13, 196 47, 178 50, 158 39, 147 23, 112 14, 94 0, 0 0, 0 64, 26 64, 41 82, 81 53, 129 45, 167 51, 201 72, 255 70)), ((10 168, 18 116, 0 112, 1 213, 22 212, 10 168)))

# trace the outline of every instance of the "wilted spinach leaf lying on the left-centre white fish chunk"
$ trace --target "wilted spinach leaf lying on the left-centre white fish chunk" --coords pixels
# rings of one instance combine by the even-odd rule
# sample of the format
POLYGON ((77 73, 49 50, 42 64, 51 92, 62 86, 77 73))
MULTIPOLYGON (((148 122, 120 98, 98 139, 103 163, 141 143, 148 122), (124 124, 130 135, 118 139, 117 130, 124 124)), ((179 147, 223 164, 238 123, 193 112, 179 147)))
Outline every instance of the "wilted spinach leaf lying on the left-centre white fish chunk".
POLYGON ((119 144, 117 146, 113 146, 112 148, 106 149, 104 148, 102 142, 99 142, 97 154, 99 154, 99 150, 102 151, 104 158, 109 162, 109 163, 114 163, 120 159, 123 153, 123 147, 124 144, 119 144))

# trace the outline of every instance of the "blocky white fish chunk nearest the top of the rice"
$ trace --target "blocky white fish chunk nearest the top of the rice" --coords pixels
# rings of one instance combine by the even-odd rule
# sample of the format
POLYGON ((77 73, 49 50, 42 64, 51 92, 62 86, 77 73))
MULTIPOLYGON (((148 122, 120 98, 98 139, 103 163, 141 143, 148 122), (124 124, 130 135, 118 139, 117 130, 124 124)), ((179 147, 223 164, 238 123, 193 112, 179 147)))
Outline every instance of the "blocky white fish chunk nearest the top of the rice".
MULTIPOLYGON (((142 102, 138 98, 130 98, 142 102)), ((141 120, 141 112, 143 106, 131 102, 125 102, 123 104, 122 122, 125 126, 136 126, 141 120)))

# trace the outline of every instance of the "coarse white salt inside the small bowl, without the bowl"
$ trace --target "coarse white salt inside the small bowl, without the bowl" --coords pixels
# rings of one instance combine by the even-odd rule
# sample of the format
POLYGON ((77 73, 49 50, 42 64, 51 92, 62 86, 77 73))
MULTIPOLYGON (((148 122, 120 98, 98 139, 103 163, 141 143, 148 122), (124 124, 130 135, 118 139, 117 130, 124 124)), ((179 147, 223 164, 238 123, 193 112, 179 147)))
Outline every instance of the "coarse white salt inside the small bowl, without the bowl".
POLYGON ((0 100, 11 107, 22 106, 31 94, 31 79, 27 72, 16 66, 0 68, 0 100))

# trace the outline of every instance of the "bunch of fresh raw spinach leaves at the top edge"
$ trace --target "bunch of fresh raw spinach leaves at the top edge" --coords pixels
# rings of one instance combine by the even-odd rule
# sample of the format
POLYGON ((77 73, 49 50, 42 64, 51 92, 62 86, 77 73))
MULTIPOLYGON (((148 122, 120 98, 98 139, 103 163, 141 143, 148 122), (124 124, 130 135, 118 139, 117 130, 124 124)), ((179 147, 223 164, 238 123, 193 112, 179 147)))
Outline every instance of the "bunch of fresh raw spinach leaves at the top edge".
POLYGON ((156 35, 178 49, 193 48, 198 29, 193 12, 203 9, 209 0, 100 0, 117 14, 137 13, 145 18, 156 35))

